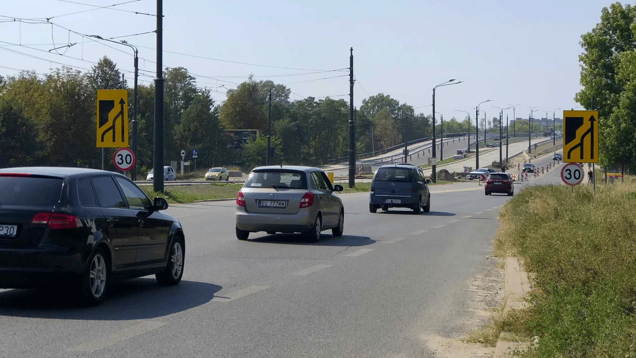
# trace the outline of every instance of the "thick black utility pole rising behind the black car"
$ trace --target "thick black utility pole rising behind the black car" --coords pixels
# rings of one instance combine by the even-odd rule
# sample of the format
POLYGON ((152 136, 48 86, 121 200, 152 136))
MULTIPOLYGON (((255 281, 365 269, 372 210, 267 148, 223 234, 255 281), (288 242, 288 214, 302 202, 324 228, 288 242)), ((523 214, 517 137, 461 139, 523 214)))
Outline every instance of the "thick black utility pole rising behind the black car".
POLYGON ((155 145, 153 190, 163 192, 163 0, 157 0, 157 50, 155 79, 155 145))

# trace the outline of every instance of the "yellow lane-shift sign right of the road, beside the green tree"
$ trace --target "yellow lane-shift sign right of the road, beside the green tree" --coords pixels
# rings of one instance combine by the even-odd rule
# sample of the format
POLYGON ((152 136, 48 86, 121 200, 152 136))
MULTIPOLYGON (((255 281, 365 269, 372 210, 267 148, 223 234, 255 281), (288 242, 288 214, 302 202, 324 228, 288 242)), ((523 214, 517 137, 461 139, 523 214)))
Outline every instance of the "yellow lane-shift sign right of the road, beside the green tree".
POLYGON ((598 163, 598 111, 563 111, 563 162, 598 163))

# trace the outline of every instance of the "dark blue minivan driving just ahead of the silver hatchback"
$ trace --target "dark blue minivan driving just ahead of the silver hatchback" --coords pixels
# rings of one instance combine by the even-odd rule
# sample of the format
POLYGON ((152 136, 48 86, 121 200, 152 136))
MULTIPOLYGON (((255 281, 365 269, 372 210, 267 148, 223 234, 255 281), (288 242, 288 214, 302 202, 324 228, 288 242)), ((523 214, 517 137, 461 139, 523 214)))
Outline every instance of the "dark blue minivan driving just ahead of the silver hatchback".
POLYGON ((422 169, 410 164, 382 165, 371 182, 369 211, 384 211, 391 207, 412 209, 415 214, 431 210, 431 181, 422 169))

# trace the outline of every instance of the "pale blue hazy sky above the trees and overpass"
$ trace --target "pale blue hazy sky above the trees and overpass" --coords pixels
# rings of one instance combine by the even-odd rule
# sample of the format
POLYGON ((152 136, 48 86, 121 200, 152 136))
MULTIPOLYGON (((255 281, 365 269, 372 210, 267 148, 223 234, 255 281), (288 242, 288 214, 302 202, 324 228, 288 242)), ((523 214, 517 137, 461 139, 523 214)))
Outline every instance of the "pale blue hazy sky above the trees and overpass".
MULTIPOLYGON (((107 47, 62 27, 102 38, 153 31, 154 16, 127 11, 154 15, 156 1, 133 0, 107 9, 95 6, 127 0, 68 1, 1 2, 2 16, 50 18, 55 26, 4 22, 8 18, 0 17, 0 75, 12 76, 23 69, 45 74, 60 67, 55 62, 89 69, 104 55, 120 69, 132 71, 132 50, 127 46, 106 42, 111 46, 107 47), (66 15, 83 10, 92 11, 66 15), (49 52, 69 43, 76 45, 49 52)), ((581 88, 581 34, 593 29, 600 20, 601 9, 611 3, 165 0, 163 65, 186 67, 197 75, 198 86, 216 91, 212 95, 219 103, 226 98, 225 88, 234 88, 250 74, 257 80, 289 84, 292 100, 340 95, 334 98, 348 101, 346 68, 352 47, 357 107, 369 95, 384 93, 401 103, 420 107, 416 109, 418 113, 430 114, 431 107, 421 106, 431 104, 432 88, 457 79, 464 83, 436 91, 436 111, 445 118, 464 118, 464 113, 455 111, 460 109, 470 112, 474 119, 474 107, 488 99, 492 102, 481 105, 481 117, 486 111, 492 118, 499 113, 492 106, 509 104, 519 104, 516 117, 527 118, 528 107, 536 107, 534 118, 545 117, 544 111, 550 111, 551 117, 553 109, 579 106, 574 94, 581 88), (313 73, 338 69, 345 70, 313 73)), ((156 71, 151 62, 156 60, 155 34, 114 41, 120 39, 139 46, 139 67, 145 70, 139 79, 148 84, 156 71)), ((132 85, 132 74, 125 75, 132 85)), ((513 118, 512 109, 505 113, 513 118)), ((556 116, 562 116, 562 112, 556 111, 556 116)))

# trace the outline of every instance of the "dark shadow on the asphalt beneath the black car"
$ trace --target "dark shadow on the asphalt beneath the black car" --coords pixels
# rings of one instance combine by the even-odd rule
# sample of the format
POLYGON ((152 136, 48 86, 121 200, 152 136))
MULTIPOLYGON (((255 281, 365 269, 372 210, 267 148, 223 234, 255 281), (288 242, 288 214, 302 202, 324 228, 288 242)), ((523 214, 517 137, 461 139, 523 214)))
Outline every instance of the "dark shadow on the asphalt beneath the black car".
POLYGON ((109 287, 106 300, 97 307, 83 307, 68 289, 13 289, 0 293, 0 315, 41 319, 134 320, 153 319, 204 305, 221 286, 181 281, 177 286, 158 286, 141 278, 109 287))

